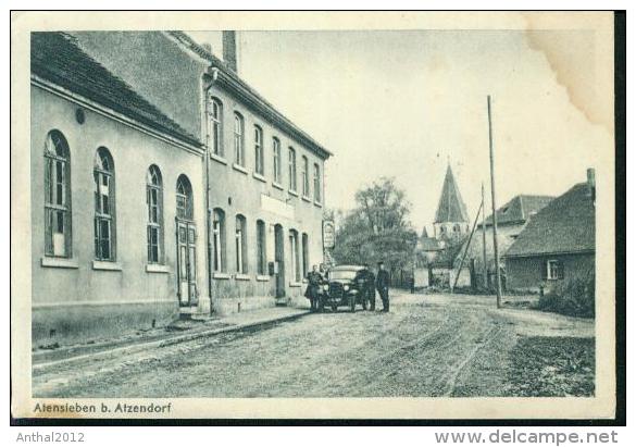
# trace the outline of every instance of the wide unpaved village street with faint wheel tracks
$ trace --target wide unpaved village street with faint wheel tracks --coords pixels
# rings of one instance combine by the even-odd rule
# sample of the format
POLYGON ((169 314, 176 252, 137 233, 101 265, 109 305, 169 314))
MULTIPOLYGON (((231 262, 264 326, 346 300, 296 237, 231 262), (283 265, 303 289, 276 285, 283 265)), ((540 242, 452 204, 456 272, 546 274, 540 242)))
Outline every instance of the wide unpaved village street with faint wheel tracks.
POLYGON ((497 310, 492 297, 394 294, 389 313, 358 309, 55 365, 34 372, 34 396, 510 396, 521 338, 594 337, 593 320, 497 310))

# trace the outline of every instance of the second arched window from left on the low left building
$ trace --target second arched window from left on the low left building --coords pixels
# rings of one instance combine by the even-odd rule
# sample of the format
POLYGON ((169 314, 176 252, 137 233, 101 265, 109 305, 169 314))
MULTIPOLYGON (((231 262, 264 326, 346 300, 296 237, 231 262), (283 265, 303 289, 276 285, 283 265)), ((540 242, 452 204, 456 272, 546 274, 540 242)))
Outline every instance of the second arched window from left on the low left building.
POLYGON ((114 261, 115 257, 115 165, 109 150, 95 154, 95 258, 114 261))

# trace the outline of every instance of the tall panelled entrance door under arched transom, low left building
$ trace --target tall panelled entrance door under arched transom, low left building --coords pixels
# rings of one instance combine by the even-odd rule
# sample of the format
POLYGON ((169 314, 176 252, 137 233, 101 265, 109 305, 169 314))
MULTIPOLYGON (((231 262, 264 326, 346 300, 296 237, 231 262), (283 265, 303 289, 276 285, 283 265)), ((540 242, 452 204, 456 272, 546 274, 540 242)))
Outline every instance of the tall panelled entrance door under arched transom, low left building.
POLYGON ((197 306, 197 228, 177 219, 177 295, 179 306, 197 306))

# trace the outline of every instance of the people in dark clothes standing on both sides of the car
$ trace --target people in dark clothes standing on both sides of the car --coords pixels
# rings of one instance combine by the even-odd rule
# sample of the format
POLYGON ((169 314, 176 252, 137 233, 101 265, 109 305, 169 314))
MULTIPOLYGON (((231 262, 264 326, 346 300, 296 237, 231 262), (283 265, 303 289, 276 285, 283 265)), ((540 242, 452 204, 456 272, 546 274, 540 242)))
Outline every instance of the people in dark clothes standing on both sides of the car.
MULTIPOLYGON (((312 271, 307 275, 307 298, 310 299, 312 310, 317 309, 317 300, 320 296, 320 288, 324 284, 324 270, 321 265, 321 271, 319 271, 317 265, 314 265, 312 271), (321 272, 322 271, 322 272, 321 272)), ((384 262, 377 263, 377 275, 374 275, 369 264, 364 264, 364 271, 360 275, 361 280, 364 280, 364 287, 360 290, 364 294, 362 299, 362 309, 366 310, 369 306, 370 310, 375 310, 375 290, 379 294, 379 298, 382 299, 382 310, 383 312, 389 311, 389 283, 390 276, 388 271, 384 268, 384 262)))

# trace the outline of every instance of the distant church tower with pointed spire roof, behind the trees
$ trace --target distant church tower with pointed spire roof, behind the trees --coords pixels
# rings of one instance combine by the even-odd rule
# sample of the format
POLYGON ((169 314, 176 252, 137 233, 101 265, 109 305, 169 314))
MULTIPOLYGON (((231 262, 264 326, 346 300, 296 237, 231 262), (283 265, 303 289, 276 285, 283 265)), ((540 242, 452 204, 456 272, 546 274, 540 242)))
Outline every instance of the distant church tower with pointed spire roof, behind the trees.
POLYGON ((460 239, 469 233, 469 214, 450 169, 450 163, 446 170, 441 197, 439 197, 433 226, 435 237, 440 240, 460 239))

